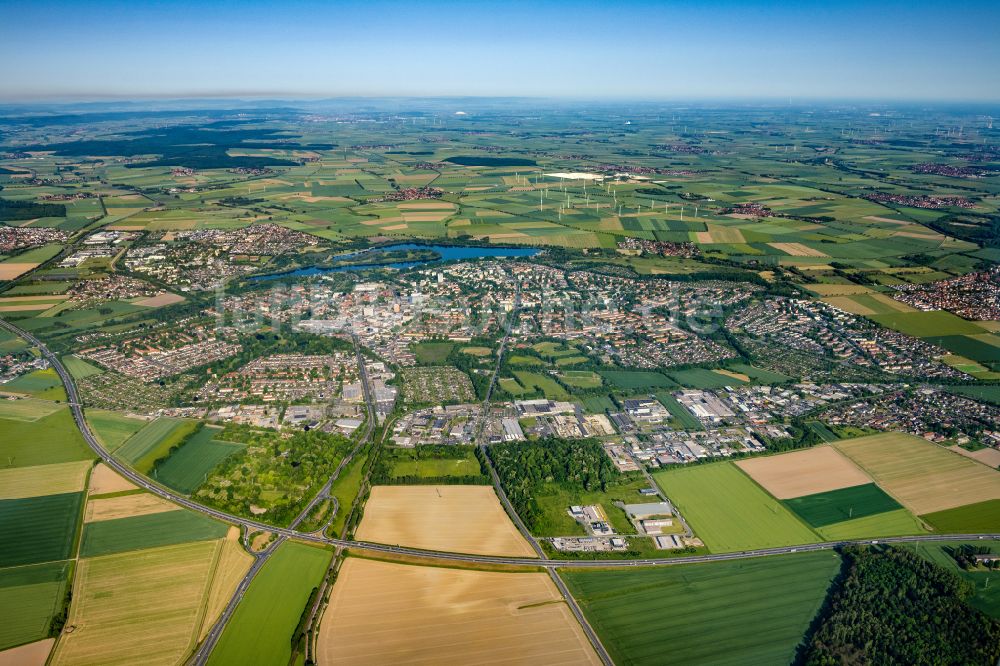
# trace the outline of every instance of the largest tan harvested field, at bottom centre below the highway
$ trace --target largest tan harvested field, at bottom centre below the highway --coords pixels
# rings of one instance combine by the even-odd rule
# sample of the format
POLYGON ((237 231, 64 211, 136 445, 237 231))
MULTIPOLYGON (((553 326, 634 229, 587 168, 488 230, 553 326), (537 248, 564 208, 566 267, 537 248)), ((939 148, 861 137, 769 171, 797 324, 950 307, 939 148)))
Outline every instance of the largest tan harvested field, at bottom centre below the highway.
POLYGON ((543 573, 348 558, 320 626, 319 664, 600 663, 543 573))

